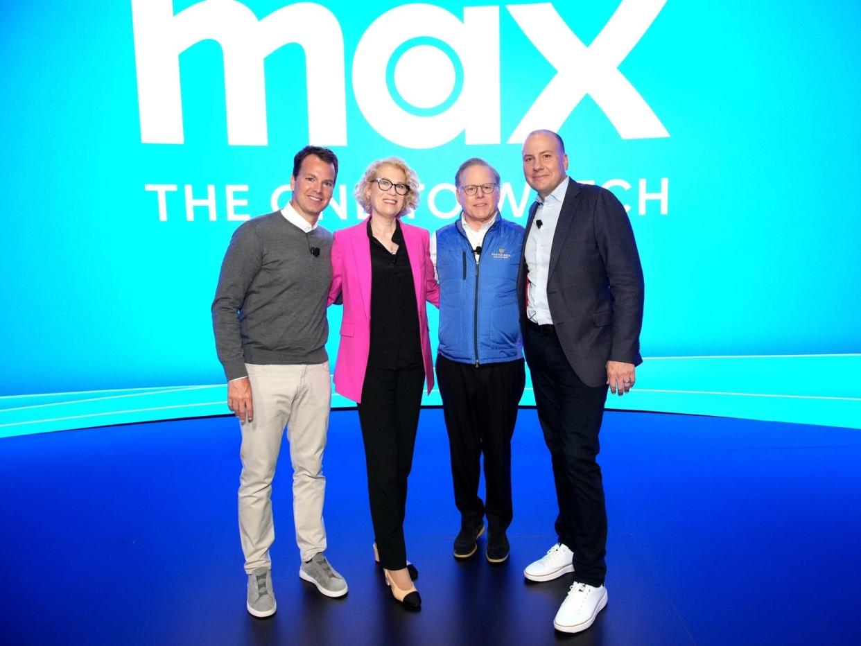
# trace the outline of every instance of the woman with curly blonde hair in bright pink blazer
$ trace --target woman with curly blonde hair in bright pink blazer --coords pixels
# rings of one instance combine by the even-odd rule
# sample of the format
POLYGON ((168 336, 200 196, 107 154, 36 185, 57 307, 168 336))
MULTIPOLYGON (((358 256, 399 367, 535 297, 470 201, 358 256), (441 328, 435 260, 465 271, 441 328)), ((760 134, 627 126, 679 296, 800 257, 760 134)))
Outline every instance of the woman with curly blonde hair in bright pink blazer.
POLYGON ((418 428, 422 385, 433 387, 425 301, 439 305, 429 234, 400 222, 418 206, 418 177, 400 158, 369 165, 356 200, 370 217, 335 232, 330 304, 344 298, 335 390, 356 401, 375 557, 395 599, 418 610, 404 542, 406 478, 418 428), (379 551, 377 551, 379 550, 379 551))

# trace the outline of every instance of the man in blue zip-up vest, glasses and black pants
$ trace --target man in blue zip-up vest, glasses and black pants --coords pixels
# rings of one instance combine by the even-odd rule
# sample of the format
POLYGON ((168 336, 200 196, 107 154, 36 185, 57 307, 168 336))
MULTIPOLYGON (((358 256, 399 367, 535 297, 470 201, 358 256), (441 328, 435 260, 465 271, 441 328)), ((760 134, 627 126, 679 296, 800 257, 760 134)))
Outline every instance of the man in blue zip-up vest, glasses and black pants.
POLYGON ((516 291, 524 229, 499 214, 499 173, 484 159, 463 162, 455 186, 461 217, 431 238, 440 287, 437 382, 461 512, 454 554, 474 555, 486 516, 485 556, 501 563, 513 516, 511 435, 525 379, 516 291), (478 494, 482 454, 486 501, 478 494))

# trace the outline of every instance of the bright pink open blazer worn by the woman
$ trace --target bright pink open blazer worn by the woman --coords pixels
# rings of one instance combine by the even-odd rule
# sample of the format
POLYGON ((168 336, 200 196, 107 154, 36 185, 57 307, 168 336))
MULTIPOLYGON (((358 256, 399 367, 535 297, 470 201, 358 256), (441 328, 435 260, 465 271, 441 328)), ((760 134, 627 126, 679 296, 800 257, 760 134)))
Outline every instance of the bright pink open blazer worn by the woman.
MULTIPOLYGON (((400 223, 410 257, 412 283, 416 288, 418 332, 421 336, 424 376, 428 392, 433 388, 431 338, 425 301, 439 307, 439 285, 434 279, 429 247, 430 233, 420 227, 400 223)), ((344 318, 341 341, 335 363, 335 390, 356 402, 362 401, 362 384, 368 369, 371 345, 371 251, 368 220, 355 227, 335 232, 331 247, 331 305, 338 295, 344 296, 344 318)))

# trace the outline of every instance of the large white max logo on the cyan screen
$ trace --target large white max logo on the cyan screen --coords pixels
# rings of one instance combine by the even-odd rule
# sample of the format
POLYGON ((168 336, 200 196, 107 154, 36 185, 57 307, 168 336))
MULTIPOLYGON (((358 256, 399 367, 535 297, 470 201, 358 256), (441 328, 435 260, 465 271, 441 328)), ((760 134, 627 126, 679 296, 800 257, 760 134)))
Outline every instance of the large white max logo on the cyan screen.
MULTIPOLYGON (((623 0, 588 47, 552 4, 505 5, 523 34, 556 70, 508 143, 521 143, 536 128, 559 129, 586 94, 624 139, 668 137, 647 102, 618 70, 665 3, 623 0)), ((315 144, 346 145, 344 38, 329 9, 295 3, 257 20, 251 9, 235 0, 203 0, 176 16, 172 0, 132 0, 132 15, 144 143, 183 143, 179 54, 211 39, 224 53, 229 144, 267 144, 263 60, 276 49, 297 43, 307 60, 308 139, 315 144)), ((410 60, 414 59, 417 57, 410 60)), ((449 76, 424 76, 425 96, 448 96, 449 76)), ((362 34, 353 56, 353 91, 362 115, 387 140, 412 148, 441 146, 461 132, 467 144, 498 144, 499 78, 499 7, 494 6, 465 7, 462 20, 431 4, 391 9, 362 34), (460 96, 434 115, 406 111, 387 85, 393 53, 417 38, 448 45, 462 68, 460 96)), ((396 86, 398 79, 396 74, 396 86)))

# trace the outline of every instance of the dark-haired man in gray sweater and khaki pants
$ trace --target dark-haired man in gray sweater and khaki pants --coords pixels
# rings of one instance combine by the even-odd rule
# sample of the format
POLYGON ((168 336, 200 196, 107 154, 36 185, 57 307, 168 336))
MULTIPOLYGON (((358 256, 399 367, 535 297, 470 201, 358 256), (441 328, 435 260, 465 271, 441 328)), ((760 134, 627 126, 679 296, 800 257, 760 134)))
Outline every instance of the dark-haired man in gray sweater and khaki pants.
POLYGON ((324 556, 323 450, 331 385, 325 342, 332 235, 317 221, 331 200, 338 158, 328 148, 296 153, 281 211, 238 227, 221 265, 212 305, 215 345, 227 377, 227 406, 242 431, 239 537, 248 574, 246 608, 276 612, 269 547, 275 540, 272 479, 284 428, 293 463, 299 576, 320 593, 347 593, 324 556))

